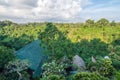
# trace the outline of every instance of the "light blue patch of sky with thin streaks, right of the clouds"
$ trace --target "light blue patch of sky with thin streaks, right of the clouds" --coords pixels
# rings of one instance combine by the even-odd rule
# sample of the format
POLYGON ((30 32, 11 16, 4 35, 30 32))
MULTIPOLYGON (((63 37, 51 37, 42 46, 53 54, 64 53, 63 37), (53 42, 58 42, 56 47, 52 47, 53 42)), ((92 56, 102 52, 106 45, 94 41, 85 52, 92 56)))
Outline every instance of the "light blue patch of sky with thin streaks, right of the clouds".
POLYGON ((91 4, 84 6, 81 15, 84 19, 107 18, 120 21, 120 0, 91 0, 91 4))

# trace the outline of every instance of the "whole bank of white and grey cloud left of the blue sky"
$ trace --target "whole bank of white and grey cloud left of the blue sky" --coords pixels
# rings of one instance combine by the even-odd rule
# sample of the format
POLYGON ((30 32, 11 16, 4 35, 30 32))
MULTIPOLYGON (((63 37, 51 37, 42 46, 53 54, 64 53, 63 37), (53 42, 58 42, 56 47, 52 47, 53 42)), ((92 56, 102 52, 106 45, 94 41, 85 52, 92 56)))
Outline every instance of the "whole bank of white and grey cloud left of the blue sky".
POLYGON ((0 17, 40 21, 70 21, 88 0, 0 0, 0 17))

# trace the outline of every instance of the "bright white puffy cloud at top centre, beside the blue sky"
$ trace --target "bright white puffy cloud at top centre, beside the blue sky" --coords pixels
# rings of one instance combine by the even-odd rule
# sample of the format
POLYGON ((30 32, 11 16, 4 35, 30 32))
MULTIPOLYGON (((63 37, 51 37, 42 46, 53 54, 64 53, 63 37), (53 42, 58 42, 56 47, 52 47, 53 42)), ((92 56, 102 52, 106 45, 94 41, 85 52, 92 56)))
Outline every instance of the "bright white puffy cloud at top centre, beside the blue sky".
POLYGON ((72 18, 82 10, 81 0, 39 0, 37 4, 33 13, 43 18, 72 18))

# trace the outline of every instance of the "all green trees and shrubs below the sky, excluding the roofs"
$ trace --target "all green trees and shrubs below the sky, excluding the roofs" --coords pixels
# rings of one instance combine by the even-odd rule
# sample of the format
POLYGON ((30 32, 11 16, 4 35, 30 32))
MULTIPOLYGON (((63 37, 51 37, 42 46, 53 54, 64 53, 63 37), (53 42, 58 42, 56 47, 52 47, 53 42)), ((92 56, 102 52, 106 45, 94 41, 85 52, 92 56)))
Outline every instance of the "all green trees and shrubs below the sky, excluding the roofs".
POLYGON ((48 61, 35 80, 119 80, 120 24, 104 18, 96 22, 88 19, 85 23, 64 24, 0 21, 0 80, 18 80, 20 74, 29 80, 29 66, 16 60, 14 52, 36 39, 41 40, 40 46, 48 55, 48 61), (75 70, 72 65, 75 55, 83 58, 87 69, 71 75, 75 70), (91 61, 92 56, 96 63, 91 61), (21 64, 23 67, 19 72, 6 73, 7 66, 13 70, 13 64, 16 70, 21 64))

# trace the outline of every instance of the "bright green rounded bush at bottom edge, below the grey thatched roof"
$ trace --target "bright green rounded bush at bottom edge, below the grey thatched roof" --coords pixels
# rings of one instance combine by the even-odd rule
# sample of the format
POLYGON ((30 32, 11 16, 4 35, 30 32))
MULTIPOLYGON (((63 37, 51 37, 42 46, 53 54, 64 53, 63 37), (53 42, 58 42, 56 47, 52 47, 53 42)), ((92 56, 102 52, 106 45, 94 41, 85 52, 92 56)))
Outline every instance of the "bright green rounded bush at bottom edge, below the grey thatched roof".
POLYGON ((73 80, 109 80, 99 73, 80 72, 74 75, 73 80))

